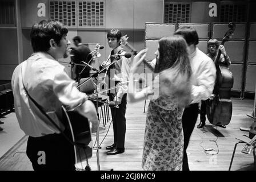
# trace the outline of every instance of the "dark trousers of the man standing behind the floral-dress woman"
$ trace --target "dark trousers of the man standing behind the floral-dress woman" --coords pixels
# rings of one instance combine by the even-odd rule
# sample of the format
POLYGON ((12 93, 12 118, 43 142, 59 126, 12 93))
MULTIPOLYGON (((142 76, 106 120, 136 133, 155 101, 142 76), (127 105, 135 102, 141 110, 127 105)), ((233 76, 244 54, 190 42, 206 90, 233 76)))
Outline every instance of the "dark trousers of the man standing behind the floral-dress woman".
POLYGON ((182 170, 189 171, 189 163, 187 162, 187 146, 189 146, 189 139, 194 130, 195 123, 198 117, 198 104, 191 104, 187 106, 182 115, 182 127, 184 133, 184 150, 183 150, 183 164, 182 170))

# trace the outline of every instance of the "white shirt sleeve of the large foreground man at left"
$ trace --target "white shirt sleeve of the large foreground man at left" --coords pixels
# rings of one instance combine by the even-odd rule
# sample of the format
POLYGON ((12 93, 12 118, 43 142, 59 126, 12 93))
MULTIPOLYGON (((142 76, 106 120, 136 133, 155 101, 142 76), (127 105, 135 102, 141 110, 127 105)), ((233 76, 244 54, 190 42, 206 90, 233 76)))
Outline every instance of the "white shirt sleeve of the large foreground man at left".
POLYGON ((75 81, 67 75, 64 69, 58 70, 53 79, 53 91, 68 110, 74 110, 87 100, 86 94, 77 89, 75 81))

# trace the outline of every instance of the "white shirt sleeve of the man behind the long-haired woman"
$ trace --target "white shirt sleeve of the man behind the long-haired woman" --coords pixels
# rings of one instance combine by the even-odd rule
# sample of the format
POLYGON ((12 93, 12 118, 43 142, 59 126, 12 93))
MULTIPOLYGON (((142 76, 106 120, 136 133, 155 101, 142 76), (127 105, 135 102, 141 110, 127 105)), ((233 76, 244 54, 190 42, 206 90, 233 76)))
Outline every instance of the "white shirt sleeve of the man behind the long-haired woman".
POLYGON ((197 85, 192 86, 192 99, 193 103, 207 100, 213 93, 216 78, 216 68, 211 59, 204 61, 204 64, 197 73, 197 85))

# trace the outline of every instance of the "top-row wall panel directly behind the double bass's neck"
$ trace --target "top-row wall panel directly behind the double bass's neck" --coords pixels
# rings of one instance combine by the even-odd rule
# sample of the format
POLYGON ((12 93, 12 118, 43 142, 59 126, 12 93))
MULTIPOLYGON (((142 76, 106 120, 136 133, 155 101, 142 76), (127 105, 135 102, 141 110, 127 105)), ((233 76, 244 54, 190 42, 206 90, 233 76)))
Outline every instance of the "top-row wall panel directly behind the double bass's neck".
MULTIPOLYGON (((245 27, 246 24, 236 24, 234 35, 231 39, 245 39, 245 27)), ((222 39, 225 33, 229 30, 228 24, 214 24, 213 26, 213 38, 222 39)))

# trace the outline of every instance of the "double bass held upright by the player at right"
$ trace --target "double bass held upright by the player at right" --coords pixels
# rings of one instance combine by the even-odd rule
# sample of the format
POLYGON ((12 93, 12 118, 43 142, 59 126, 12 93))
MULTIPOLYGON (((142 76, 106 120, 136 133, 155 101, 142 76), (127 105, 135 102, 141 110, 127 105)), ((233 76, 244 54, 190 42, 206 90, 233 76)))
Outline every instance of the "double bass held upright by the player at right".
MULTIPOLYGON (((229 23, 229 30, 222 39, 221 45, 229 41, 234 34, 235 24, 229 23)), ((213 125, 228 125, 232 116, 232 101, 230 100, 231 88, 233 88, 234 78, 227 67, 220 63, 221 50, 214 60, 217 71, 212 97, 206 100, 206 115, 213 125)))

